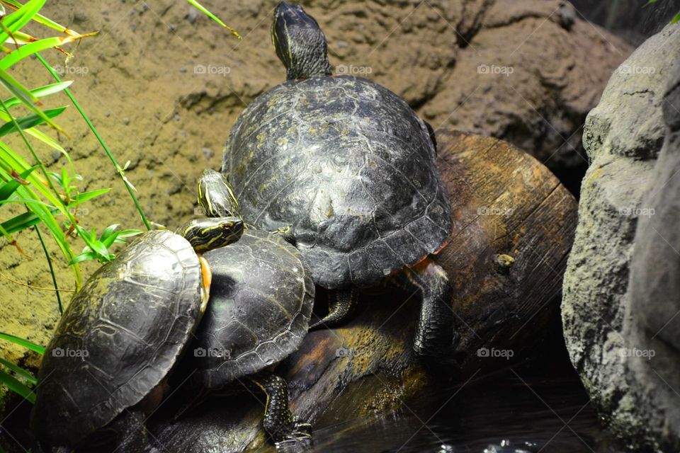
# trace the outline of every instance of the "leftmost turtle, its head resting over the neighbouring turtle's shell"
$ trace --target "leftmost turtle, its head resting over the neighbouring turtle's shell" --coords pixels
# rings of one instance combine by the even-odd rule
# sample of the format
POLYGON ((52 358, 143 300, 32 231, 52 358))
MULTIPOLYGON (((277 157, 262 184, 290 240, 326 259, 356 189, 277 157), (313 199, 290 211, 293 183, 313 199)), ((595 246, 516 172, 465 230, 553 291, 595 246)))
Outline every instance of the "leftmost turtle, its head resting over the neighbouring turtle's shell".
POLYGON ((115 441, 123 452, 145 449, 145 415, 161 401, 208 303, 202 253, 242 232, 236 217, 194 219, 176 233, 147 231, 86 280, 38 372, 30 428, 43 445, 115 441))

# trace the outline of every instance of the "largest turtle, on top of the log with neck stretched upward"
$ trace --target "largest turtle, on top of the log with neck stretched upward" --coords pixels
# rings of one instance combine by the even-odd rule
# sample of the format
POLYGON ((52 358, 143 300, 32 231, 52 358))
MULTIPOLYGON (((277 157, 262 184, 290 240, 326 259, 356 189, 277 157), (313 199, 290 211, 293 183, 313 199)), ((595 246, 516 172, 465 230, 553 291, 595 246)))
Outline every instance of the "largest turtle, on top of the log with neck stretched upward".
POLYGON ((432 257, 453 219, 432 128, 387 88, 332 75, 324 33, 301 6, 276 6, 271 38, 287 80, 239 115, 222 160, 244 218, 287 230, 330 290, 311 328, 348 319, 363 289, 397 286, 421 298, 415 352, 444 355, 452 290, 432 257))

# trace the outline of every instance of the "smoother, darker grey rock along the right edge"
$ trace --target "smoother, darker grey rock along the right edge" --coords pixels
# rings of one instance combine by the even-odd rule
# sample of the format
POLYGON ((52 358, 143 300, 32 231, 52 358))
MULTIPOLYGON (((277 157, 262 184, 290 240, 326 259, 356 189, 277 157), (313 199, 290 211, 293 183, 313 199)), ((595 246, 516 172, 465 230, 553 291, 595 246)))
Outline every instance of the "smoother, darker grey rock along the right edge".
MULTIPOLYGON (((645 429, 647 443, 680 450, 680 62, 664 97, 664 147, 643 206, 630 265, 626 365, 638 403, 621 423, 645 429)), ((622 427, 623 428, 623 427, 622 427)))

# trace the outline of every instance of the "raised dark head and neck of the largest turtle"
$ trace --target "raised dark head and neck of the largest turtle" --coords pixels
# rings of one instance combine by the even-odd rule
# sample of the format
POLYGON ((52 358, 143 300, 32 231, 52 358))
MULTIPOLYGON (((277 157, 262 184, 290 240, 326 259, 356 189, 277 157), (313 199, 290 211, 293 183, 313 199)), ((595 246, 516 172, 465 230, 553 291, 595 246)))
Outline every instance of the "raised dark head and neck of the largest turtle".
POLYGON ((288 80, 331 75, 324 32, 302 6, 280 2, 274 10, 271 41, 288 80))

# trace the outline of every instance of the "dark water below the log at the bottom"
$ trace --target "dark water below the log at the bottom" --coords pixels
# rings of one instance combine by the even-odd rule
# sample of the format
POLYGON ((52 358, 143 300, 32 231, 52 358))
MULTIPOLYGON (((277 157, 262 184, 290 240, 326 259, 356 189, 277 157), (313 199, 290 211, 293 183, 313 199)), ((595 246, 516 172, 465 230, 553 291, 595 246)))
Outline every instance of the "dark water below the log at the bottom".
POLYGON ((534 378, 509 369, 490 381, 433 390, 407 406, 315 430, 307 451, 618 452, 574 376, 534 378))

